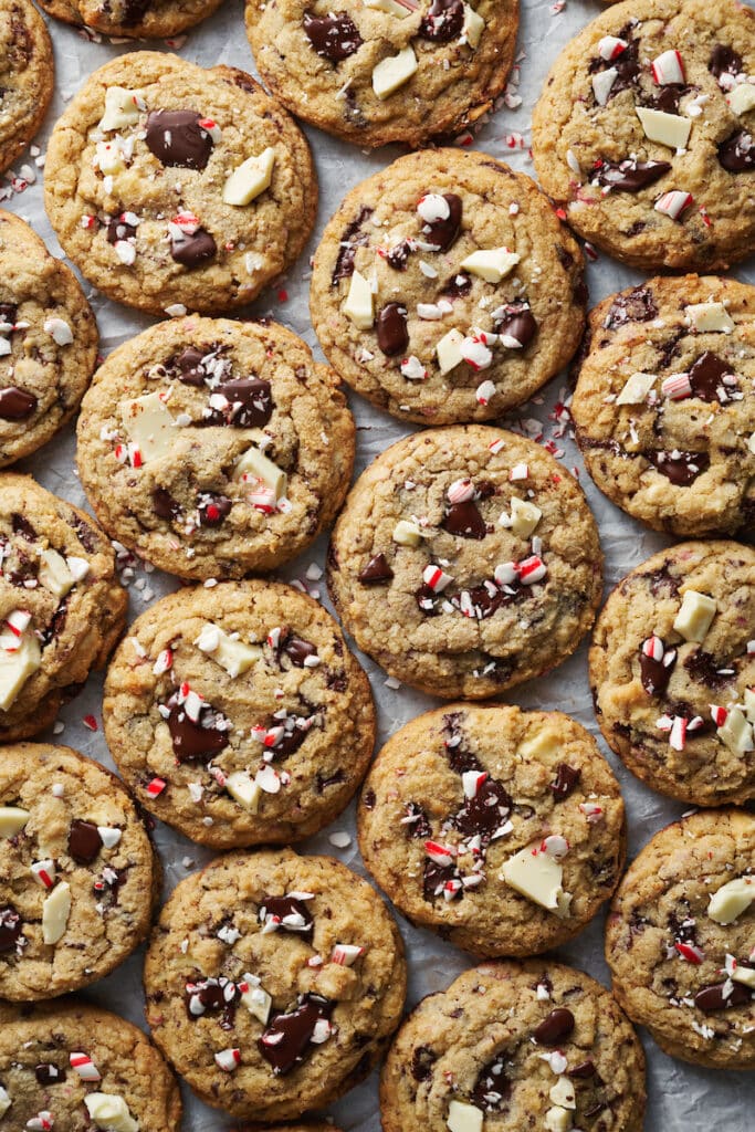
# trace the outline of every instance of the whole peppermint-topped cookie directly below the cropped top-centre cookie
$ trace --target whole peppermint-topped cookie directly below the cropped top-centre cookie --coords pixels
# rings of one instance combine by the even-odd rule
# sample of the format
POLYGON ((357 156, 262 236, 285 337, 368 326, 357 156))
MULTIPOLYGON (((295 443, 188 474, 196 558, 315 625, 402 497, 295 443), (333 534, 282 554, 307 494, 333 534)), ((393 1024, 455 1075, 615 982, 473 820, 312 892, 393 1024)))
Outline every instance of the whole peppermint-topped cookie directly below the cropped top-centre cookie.
POLYGON ((352 388, 402 420, 490 420, 561 369, 582 255, 534 182, 423 151, 358 185, 315 255, 312 325, 352 388))

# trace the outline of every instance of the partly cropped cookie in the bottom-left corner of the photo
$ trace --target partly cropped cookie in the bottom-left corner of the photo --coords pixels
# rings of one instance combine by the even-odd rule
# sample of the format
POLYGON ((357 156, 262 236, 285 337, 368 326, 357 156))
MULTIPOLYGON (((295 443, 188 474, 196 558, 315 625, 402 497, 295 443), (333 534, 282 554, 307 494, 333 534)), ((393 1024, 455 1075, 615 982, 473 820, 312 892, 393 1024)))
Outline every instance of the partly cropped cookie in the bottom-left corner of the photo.
POLYGON ((0 1005, 0 1126, 179 1132, 181 1098, 141 1030, 66 1003, 0 1005))

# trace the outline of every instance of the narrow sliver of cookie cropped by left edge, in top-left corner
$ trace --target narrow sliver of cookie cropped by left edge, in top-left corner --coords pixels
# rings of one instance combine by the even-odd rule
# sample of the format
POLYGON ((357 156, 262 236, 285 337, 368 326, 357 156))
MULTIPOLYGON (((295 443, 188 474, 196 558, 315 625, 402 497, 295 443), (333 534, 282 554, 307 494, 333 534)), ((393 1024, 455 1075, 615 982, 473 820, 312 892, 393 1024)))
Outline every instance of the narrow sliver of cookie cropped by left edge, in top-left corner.
POLYGON ((22 155, 52 98, 54 59, 29 0, 0 0, 0 173, 22 155))

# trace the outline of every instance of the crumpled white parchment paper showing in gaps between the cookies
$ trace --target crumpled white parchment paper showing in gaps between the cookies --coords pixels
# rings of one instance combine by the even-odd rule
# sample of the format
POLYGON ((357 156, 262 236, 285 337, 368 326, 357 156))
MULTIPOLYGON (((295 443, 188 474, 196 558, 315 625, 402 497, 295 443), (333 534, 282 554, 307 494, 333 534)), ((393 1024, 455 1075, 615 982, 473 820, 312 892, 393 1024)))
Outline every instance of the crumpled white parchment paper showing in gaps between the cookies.
MULTIPOLYGON (((518 78, 521 85, 514 92, 522 97, 523 102, 520 106, 501 106, 497 113, 491 115, 491 119, 475 138, 477 148, 484 149, 496 157, 508 161, 516 169, 534 175, 527 148, 531 110, 540 86, 561 48, 601 9, 602 6, 592 2, 592 0, 567 0, 563 10, 559 11, 554 11, 548 0, 546 2, 543 0, 524 0, 520 32, 521 69, 518 78), (517 144, 517 147, 511 148, 508 142, 514 132, 522 136, 522 142, 517 144)), ((49 20, 49 24, 55 49, 57 80, 53 106, 48 115, 44 130, 36 139, 42 154, 44 154, 52 123, 87 76, 113 55, 131 50, 134 46, 132 44, 88 42, 81 33, 77 33, 63 24, 52 19, 49 20)), ((168 50, 163 43, 140 43, 136 46, 168 50)), ((178 50, 183 58, 203 66, 231 63, 254 71, 251 52, 243 34, 241 0, 225 0, 221 10, 190 32, 186 42, 181 43, 178 50)), ((516 101, 516 98, 509 101, 516 101)), ((288 299, 284 300, 278 293, 278 288, 273 286, 260 297, 251 310, 256 315, 272 315, 291 326, 310 345, 316 346, 308 315, 309 273, 307 257, 314 251, 326 221, 335 211, 346 189, 398 156, 400 151, 386 148, 378 154, 366 155, 357 148, 335 142, 316 129, 307 127, 307 132, 312 145, 320 181, 320 207, 315 234, 307 252, 281 282, 281 286, 285 288, 288 292, 288 299)), ((11 191, 8 199, 0 200, 0 205, 28 220, 48 241, 54 254, 60 255, 60 248, 44 214, 41 185, 43 170, 35 165, 34 156, 25 155, 17 162, 15 172, 18 173, 26 164, 35 169, 36 182, 29 185, 23 192, 11 191)), ((7 178, 6 187, 10 191, 8 181, 7 178)), ((2 186, 1 180, 0 186, 2 186)), ((1 187, 0 196, 2 196, 1 187)), ((755 283, 753 259, 737 267, 733 274, 740 280, 755 283)), ((587 278, 591 301, 597 302, 606 294, 637 282, 641 276, 638 273, 601 256, 597 263, 589 265, 587 278)), ((149 319, 146 317, 111 302, 88 285, 85 289, 96 312, 104 354, 148 325, 149 319)), ((546 438, 551 437, 555 421, 549 419, 549 413, 556 401, 563 395, 565 377, 556 378, 551 381, 543 397, 535 398, 523 406, 516 414, 507 419, 506 424, 515 428, 524 427, 531 435, 543 431, 546 438)), ((371 409, 366 401, 355 395, 351 396, 351 404, 359 424, 357 468, 359 472, 388 444, 398 439, 409 429, 402 428, 397 421, 371 409)), ((645 531, 638 523, 628 518, 603 499, 584 473, 576 445, 572 440, 568 429, 566 435, 561 439, 557 439, 556 443, 564 449, 561 458, 566 466, 569 469, 576 466, 581 472, 582 484, 598 516, 601 542, 607 559, 606 582, 607 586, 610 586, 628 569, 668 544, 670 540, 645 531)), ((19 470, 32 472, 50 490, 72 503, 85 506, 84 495, 74 473, 74 429, 69 428, 62 436, 49 444, 43 452, 24 461, 19 470)), ((319 591, 327 604, 325 586, 307 577, 307 569, 312 563, 323 565, 325 544, 326 540, 320 539, 309 554, 303 555, 292 566, 283 571, 281 576, 288 580, 301 580, 310 591, 319 591)), ((166 575, 161 575, 157 572, 149 574, 138 572, 130 586, 131 617, 141 612, 149 601, 175 589, 175 581, 166 575)), ((379 707, 380 741, 384 741, 420 711, 435 706, 435 702, 428 696, 403 687, 397 689, 387 687, 385 674, 367 658, 362 657, 361 659, 370 675, 379 707)), ((58 741, 67 743, 112 766, 101 728, 93 734, 83 724, 83 718, 88 713, 95 717, 98 724, 101 723, 101 696, 102 679, 93 677, 78 700, 61 712, 65 730, 58 736, 58 741)), ((586 649, 584 646, 550 676, 514 689, 511 700, 523 707, 559 707, 574 715, 593 734, 598 735, 587 688, 586 649)), ((50 732, 40 738, 51 739, 52 737, 52 732, 50 732)), ((623 786, 629 815, 629 851, 634 856, 652 833, 678 817, 683 807, 668 801, 637 782, 608 752, 602 739, 599 741, 623 786)), ((337 849, 328 840, 328 834, 335 831, 345 830, 353 835, 353 829, 352 806, 333 826, 307 842, 304 848, 316 852, 332 852, 346 865, 358 872, 363 872, 353 841, 346 849, 337 849)), ((166 891, 209 859, 207 852, 173 833, 165 825, 157 825, 156 842, 165 868, 166 891)), ((401 919, 400 926, 406 942, 411 971, 410 1004, 415 1003, 429 992, 443 989, 469 966, 470 960, 463 952, 443 943, 431 933, 413 929, 401 919)), ((603 916, 601 915, 570 946, 561 949, 560 955, 608 985, 608 971, 602 959, 602 931, 603 916)), ((140 974, 141 953, 139 952, 108 979, 86 992, 86 996, 144 1027, 140 974)), ((645 1034, 642 1037, 649 1054, 647 1132, 711 1132, 711 1130, 721 1130, 721 1132, 724 1130, 726 1132, 747 1132, 750 1130, 752 1132, 755 1125, 753 1116, 755 1078, 752 1074, 704 1070, 676 1062, 662 1054, 645 1034)), ((185 1129, 190 1130, 190 1132, 211 1132, 211 1130, 220 1132, 220 1130, 231 1126, 232 1122, 228 1117, 196 1101, 188 1089, 185 1088, 183 1092, 186 1099, 185 1129)), ((376 1075, 334 1106, 333 1114, 345 1132, 351 1132, 351 1130, 376 1132, 379 1126, 376 1075)), ((149 1130, 145 1130, 145 1132, 149 1132, 149 1130)))

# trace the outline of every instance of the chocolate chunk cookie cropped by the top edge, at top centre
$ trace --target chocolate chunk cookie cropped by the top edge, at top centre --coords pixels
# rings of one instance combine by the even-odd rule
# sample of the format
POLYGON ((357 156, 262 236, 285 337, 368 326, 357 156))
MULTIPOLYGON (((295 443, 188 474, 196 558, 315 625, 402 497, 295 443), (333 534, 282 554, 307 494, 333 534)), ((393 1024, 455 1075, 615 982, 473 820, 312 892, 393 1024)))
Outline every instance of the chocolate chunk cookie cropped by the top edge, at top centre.
POLYGON ((247 0, 263 82, 328 134, 360 146, 454 134, 492 109, 518 28, 518 0, 247 0))

